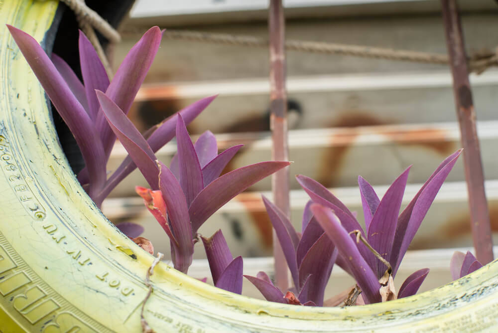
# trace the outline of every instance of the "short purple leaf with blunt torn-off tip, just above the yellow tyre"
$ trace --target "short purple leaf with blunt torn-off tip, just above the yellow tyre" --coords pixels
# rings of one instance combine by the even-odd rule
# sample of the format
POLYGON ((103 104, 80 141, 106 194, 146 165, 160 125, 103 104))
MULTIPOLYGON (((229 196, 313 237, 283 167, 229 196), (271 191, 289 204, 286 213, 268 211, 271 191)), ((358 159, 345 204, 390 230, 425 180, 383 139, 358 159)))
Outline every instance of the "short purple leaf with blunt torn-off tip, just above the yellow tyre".
POLYGON ((201 239, 206 250, 211 276, 216 285, 221 274, 234 258, 221 230, 215 232, 210 238, 201 237, 201 239))

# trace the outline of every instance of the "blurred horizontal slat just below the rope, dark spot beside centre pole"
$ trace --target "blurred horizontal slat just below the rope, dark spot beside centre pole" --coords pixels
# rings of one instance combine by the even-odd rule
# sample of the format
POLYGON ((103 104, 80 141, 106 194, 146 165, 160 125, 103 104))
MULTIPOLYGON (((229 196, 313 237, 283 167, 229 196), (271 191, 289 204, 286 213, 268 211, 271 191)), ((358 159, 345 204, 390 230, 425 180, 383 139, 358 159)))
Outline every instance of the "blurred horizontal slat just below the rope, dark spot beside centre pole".
MULTIPOLYGON (((290 129, 456 120, 449 72, 289 77, 290 129), (296 109, 301 111, 297 116, 296 109)), ((498 71, 472 75, 479 120, 496 119, 498 71)), ((189 126, 192 133, 269 130, 269 83, 244 79, 148 84, 129 117, 141 130, 194 101, 220 94, 189 126)))

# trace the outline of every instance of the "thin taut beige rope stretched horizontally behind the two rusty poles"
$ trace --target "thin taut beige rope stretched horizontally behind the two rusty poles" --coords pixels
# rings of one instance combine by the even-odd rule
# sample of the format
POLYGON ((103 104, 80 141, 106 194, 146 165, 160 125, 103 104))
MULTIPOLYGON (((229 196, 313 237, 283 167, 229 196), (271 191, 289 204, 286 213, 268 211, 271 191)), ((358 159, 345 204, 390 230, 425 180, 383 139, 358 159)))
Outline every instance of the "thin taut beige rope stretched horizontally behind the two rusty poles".
MULTIPOLYGON (((163 38, 208 42, 247 47, 268 47, 268 40, 253 36, 236 36, 231 34, 209 33, 198 31, 165 30, 163 38)), ((428 64, 449 64, 446 54, 394 50, 390 48, 347 45, 315 41, 286 40, 285 49, 289 51, 313 52, 322 54, 351 55, 365 58, 411 61, 428 64)), ((498 50, 497 50, 498 52, 498 50)), ((469 71, 478 74, 491 66, 498 66, 497 53, 487 52, 469 58, 469 71)))

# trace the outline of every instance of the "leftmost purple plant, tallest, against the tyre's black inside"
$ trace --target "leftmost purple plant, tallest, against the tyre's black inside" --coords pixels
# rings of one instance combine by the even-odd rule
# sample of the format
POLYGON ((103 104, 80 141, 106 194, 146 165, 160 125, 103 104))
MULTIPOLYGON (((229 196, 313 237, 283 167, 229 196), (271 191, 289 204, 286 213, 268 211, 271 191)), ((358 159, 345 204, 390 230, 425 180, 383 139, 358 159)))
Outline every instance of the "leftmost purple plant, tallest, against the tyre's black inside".
MULTIPOLYGON (((68 125, 81 150, 85 168, 80 183, 100 207, 112 189, 136 167, 128 156, 107 179, 106 165, 116 136, 100 108, 95 90, 105 91, 126 114, 147 74, 161 41, 158 27, 150 28, 131 48, 112 81, 87 37, 80 31, 79 55, 83 83, 69 65, 53 54, 52 61, 34 38, 7 24, 22 54, 45 89, 48 97, 68 125)), ((180 111, 187 123, 202 112, 215 96, 202 99, 180 111)), ((174 137, 173 117, 152 127, 148 144, 153 152, 174 137)))

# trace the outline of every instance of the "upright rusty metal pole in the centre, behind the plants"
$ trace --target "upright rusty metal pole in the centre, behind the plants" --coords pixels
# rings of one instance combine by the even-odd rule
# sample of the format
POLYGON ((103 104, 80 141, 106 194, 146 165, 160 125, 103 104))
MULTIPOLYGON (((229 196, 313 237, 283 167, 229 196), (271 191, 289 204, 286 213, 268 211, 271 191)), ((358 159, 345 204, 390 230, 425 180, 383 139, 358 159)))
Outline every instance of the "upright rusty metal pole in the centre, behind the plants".
MULTIPOLYGON (((282 0, 270 0, 268 30, 270 35, 270 128, 273 142, 271 157, 274 161, 288 161, 285 20, 282 0)), ((289 167, 272 175, 271 187, 275 205, 290 217, 289 167)), ((275 231, 273 231, 273 258, 275 260, 275 284, 280 290, 285 291, 289 287, 288 268, 275 231)))

